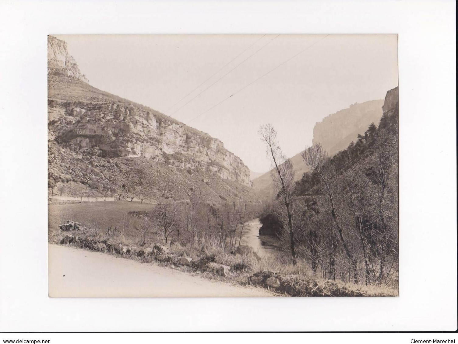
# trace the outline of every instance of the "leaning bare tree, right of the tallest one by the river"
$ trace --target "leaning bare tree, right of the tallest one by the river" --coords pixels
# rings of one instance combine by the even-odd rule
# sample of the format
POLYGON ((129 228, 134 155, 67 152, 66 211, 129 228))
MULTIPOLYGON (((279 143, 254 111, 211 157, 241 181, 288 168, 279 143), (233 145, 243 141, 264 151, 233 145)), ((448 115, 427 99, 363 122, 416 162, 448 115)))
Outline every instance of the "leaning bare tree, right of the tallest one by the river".
POLYGON ((329 158, 327 152, 322 148, 322 146, 317 143, 301 153, 302 158, 304 159, 305 165, 310 167, 313 171, 318 173, 322 180, 323 191, 327 196, 329 201, 329 206, 331 210, 331 216, 335 223, 335 228, 340 239, 342 246, 344 247, 345 254, 349 258, 352 270, 353 270, 353 281, 354 283, 358 282, 358 269, 356 258, 350 250, 349 243, 344 236, 343 226, 338 219, 336 212, 336 196, 338 191, 338 178, 337 173, 333 166, 329 163, 329 158))

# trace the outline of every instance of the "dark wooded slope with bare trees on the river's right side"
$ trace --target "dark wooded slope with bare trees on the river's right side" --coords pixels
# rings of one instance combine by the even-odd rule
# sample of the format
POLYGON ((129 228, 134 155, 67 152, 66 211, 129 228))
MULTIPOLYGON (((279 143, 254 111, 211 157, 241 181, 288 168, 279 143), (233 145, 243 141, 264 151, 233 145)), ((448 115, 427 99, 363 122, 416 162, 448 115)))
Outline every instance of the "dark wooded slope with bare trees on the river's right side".
MULTIPOLYGON (((319 144, 307 148, 302 157, 310 172, 298 182, 288 159, 277 161, 284 168, 261 231, 281 238, 293 264, 302 259, 326 279, 398 285, 397 100, 392 105, 384 106, 378 127, 372 123, 335 156, 319 144)), ((275 147, 268 149, 275 157, 275 147)))

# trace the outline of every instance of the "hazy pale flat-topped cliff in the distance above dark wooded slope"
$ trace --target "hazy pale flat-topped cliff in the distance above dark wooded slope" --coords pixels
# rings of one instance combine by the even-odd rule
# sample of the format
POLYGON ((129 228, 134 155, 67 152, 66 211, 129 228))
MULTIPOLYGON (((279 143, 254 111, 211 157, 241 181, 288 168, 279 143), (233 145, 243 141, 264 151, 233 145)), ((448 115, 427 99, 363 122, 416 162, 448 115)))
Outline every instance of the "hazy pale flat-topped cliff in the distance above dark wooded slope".
POLYGON ((356 141, 358 134, 363 134, 374 122, 378 125, 382 117, 383 100, 372 100, 361 104, 355 103, 317 122, 313 128, 312 144, 320 143, 329 155, 348 147, 356 141))

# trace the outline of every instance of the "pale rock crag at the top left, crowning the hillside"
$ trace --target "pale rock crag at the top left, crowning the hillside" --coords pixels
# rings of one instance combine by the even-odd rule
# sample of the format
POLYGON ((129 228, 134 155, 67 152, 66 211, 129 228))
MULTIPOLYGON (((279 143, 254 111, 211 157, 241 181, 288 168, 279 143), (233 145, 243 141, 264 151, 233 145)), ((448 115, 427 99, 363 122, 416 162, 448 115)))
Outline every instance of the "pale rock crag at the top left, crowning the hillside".
POLYGON ((48 36, 48 73, 61 73, 89 82, 67 51, 67 43, 51 35, 48 36))

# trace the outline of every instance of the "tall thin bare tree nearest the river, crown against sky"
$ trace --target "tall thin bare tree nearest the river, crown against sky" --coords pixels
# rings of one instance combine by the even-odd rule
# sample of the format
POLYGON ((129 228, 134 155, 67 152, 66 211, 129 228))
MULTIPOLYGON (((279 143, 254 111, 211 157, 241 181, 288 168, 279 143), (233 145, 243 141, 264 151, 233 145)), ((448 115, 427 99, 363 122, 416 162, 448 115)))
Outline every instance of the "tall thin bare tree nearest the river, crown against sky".
POLYGON ((291 256, 293 258, 293 265, 296 264, 296 252, 294 242, 294 228, 292 220, 292 193, 294 189, 294 169, 293 163, 290 159, 284 156, 281 148, 277 142, 277 131, 273 129, 272 125, 262 125, 258 131, 261 135, 261 140, 267 145, 267 155, 271 156, 274 168, 271 171, 273 183, 278 189, 278 197, 282 199, 284 210, 286 211, 291 256))

